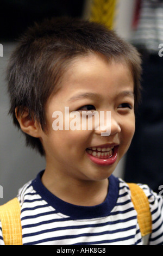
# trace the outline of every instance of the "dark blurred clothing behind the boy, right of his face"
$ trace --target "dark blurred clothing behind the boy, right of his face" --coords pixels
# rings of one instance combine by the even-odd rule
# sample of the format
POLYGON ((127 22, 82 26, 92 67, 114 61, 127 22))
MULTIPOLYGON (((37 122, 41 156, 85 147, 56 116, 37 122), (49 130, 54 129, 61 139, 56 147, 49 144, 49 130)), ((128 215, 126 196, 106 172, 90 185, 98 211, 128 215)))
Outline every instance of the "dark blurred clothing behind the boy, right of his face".
POLYGON ((163 57, 146 56, 141 84, 142 102, 136 112, 124 179, 146 183, 159 192, 163 185, 163 57))

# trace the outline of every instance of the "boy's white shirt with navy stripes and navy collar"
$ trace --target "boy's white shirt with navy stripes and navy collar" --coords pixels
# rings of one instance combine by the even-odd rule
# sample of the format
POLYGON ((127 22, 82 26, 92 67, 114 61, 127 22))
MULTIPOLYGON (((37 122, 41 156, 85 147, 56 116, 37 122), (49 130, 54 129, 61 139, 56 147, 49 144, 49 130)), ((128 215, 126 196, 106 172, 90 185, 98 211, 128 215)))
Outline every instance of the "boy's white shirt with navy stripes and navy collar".
MULTIPOLYGON (((142 245, 130 190, 122 179, 109 177, 108 195, 102 204, 78 206, 49 192, 41 182, 42 174, 18 192, 23 245, 142 245)), ((151 207, 149 245, 163 245, 163 199, 147 185, 139 186, 151 207)), ((0 245, 4 245, 1 225, 0 245)))

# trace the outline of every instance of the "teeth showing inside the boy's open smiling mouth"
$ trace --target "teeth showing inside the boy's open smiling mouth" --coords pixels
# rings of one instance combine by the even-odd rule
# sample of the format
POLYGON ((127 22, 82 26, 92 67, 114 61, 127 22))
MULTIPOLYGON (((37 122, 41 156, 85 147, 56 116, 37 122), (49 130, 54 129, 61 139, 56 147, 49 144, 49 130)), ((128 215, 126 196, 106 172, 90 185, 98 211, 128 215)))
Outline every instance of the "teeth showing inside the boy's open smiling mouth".
POLYGON ((93 148, 87 148, 86 152, 94 157, 97 157, 99 159, 108 159, 113 155, 114 147, 106 147, 106 148, 100 148, 100 147, 93 147, 93 148))

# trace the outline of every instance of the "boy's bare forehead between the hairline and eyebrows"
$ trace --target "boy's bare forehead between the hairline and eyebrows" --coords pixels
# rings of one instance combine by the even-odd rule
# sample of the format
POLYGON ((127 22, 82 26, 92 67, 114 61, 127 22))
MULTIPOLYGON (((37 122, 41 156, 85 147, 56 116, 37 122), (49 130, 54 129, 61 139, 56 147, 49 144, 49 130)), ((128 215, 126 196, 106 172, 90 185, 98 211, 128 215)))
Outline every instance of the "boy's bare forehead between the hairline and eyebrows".
POLYGON ((103 82, 109 87, 120 80, 122 84, 132 83, 134 86, 133 76, 125 62, 108 61, 102 55, 92 53, 72 60, 62 76, 60 89, 75 90, 82 86, 83 89, 90 87, 95 90, 103 82))

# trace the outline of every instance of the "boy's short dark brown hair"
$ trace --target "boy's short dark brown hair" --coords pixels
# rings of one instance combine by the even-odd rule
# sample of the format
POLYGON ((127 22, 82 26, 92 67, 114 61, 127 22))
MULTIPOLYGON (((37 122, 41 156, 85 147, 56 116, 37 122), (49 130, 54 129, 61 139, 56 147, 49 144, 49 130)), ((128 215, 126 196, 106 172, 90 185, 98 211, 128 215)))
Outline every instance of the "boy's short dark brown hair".
MULTIPOLYGON (((10 110, 28 109, 46 130, 45 105, 58 89, 60 78, 75 57, 100 53, 106 59, 126 63, 134 80, 135 104, 140 99, 141 58, 136 48, 104 25, 87 20, 57 17, 35 23, 18 40, 7 69, 10 110)), ((45 155, 39 138, 26 135, 26 144, 45 155)))

